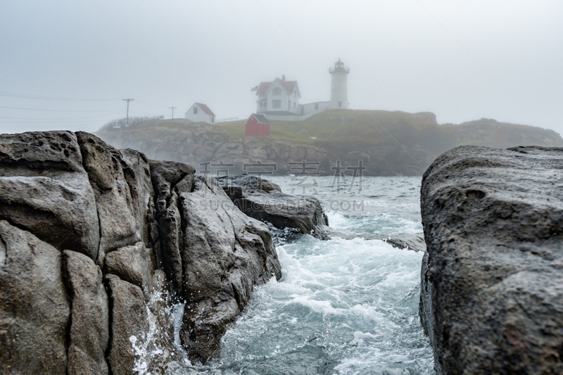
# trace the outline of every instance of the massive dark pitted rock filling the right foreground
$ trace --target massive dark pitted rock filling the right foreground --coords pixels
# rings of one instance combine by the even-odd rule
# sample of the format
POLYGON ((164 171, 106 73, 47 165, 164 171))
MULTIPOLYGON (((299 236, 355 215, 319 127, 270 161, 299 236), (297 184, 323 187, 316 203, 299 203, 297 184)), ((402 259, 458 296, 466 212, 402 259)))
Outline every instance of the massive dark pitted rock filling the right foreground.
POLYGON ((438 374, 563 373, 563 149, 475 146, 424 174, 420 316, 438 374))

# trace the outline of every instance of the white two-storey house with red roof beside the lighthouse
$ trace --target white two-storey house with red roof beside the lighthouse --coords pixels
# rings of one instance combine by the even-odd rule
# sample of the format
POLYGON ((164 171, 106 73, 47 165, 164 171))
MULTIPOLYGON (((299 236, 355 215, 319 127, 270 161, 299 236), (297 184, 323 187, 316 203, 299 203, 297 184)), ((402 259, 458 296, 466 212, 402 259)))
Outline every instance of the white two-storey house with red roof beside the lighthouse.
POLYGON ((285 75, 281 76, 281 80, 276 78, 272 82, 260 82, 258 87, 255 87, 255 91, 258 96, 256 113, 272 115, 301 113, 299 85, 297 81, 286 81, 285 75))

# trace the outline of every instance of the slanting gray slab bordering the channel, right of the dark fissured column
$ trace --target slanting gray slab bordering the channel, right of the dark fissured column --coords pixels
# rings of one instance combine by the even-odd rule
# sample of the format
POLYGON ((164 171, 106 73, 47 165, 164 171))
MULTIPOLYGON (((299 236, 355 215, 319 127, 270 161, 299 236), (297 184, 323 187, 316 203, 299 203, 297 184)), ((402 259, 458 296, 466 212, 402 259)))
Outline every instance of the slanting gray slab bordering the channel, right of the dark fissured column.
POLYGON ((243 215, 215 179, 196 177, 191 192, 179 192, 179 207, 187 301, 180 338, 192 361, 205 362, 253 286, 279 280, 281 268, 268 227, 243 215))

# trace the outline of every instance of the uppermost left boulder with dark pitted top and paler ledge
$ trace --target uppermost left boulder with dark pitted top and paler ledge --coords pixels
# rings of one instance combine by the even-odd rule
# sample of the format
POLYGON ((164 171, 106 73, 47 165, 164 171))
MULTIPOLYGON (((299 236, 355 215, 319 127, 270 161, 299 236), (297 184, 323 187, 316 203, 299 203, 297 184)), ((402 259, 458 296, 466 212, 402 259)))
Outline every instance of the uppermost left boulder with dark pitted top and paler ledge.
POLYGON ((72 132, 0 135, 0 219, 95 259, 94 192, 72 132))

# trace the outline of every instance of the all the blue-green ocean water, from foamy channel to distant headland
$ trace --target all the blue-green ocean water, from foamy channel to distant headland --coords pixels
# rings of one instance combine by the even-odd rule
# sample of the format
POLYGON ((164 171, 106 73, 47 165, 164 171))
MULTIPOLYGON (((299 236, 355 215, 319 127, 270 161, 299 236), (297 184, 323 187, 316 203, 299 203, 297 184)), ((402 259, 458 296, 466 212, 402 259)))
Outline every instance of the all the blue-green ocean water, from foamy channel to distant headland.
MULTIPOLYGON (((296 179, 270 179, 286 193, 303 193, 296 179)), ((337 231, 422 231, 420 178, 363 177, 361 189, 358 182, 338 189, 333 177, 316 177, 305 193, 323 201, 337 231)), ((217 358, 205 365, 181 360, 170 374, 434 373, 418 314, 422 253, 362 238, 274 231, 274 239, 282 279, 255 288, 217 358)))

